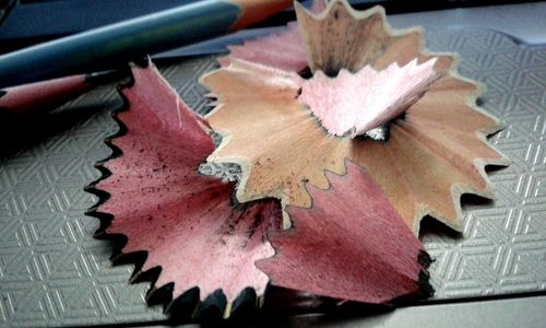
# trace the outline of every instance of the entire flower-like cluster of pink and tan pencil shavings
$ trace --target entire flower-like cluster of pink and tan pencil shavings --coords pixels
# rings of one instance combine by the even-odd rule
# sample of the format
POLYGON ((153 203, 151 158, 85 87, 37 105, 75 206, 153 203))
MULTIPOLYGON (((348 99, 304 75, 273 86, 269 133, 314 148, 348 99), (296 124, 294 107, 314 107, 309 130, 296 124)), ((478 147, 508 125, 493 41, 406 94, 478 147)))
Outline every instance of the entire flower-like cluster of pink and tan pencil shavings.
POLYGON ((475 106, 480 89, 453 56, 426 52, 420 31, 393 31, 382 9, 321 9, 296 3, 299 31, 234 47, 202 77, 217 97, 206 120, 153 68, 133 70, 118 117, 128 133, 114 140, 123 155, 105 165, 99 209, 115 216, 108 233, 129 237, 124 251, 147 251, 143 270, 162 266, 156 283, 174 282, 175 297, 198 286, 201 301, 222 290, 232 302, 269 279, 359 302, 428 295, 422 218, 461 230, 460 196, 492 197, 484 167, 507 160, 486 136, 501 125, 475 106), (277 45, 287 52, 266 49, 277 45), (387 126, 384 141, 360 137, 387 126), (224 137, 215 150, 210 128, 224 137), (198 173, 206 156, 241 166, 237 204, 232 185, 198 173), (280 232, 272 198, 292 229, 280 232))

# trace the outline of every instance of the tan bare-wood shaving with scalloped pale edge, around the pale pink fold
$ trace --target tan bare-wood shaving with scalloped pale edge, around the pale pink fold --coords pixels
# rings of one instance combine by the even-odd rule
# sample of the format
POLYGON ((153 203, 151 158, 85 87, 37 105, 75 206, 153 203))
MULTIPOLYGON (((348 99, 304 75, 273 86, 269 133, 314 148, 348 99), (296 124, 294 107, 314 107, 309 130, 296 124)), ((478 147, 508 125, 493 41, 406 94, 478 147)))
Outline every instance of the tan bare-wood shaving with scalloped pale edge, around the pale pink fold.
POLYGON ((377 142, 328 134, 298 103, 302 79, 296 73, 234 59, 202 79, 219 104, 207 119, 224 134, 209 160, 242 166, 240 201, 276 197, 309 208, 304 184, 328 188, 324 171, 344 174, 348 159, 368 172, 415 234, 427 214, 461 231, 461 195, 491 198, 484 167, 509 163, 486 141, 502 125, 475 106, 482 87, 459 77, 454 56, 426 52, 419 30, 392 31, 378 8, 356 12, 336 0, 319 16, 296 9, 312 69, 379 70, 436 57, 435 70, 444 75, 391 124, 389 141, 377 142))

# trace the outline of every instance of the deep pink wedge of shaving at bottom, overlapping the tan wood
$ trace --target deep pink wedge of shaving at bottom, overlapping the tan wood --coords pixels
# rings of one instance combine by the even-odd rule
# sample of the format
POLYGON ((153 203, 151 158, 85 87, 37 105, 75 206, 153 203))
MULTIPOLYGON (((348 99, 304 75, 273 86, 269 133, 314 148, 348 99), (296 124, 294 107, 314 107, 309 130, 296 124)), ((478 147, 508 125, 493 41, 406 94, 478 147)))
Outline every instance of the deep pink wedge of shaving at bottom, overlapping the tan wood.
POLYGON ((384 303, 417 292, 428 284, 423 246, 373 179, 346 165, 344 176, 327 173, 328 190, 308 185, 310 209, 287 207, 293 227, 270 234, 277 254, 258 267, 274 285, 334 298, 384 303))

